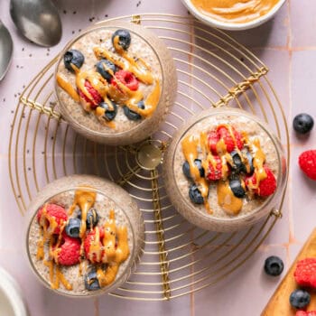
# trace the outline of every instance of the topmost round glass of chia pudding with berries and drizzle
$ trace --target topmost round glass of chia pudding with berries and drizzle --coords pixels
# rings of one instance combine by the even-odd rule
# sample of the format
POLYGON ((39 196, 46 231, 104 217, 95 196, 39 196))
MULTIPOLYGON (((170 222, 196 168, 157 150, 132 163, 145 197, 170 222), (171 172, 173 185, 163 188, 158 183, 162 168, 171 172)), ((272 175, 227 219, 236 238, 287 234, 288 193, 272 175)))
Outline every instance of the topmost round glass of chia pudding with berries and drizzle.
POLYGON ((61 52, 55 75, 62 116, 78 133, 113 145, 153 134, 177 87, 170 52, 134 23, 88 29, 61 52))

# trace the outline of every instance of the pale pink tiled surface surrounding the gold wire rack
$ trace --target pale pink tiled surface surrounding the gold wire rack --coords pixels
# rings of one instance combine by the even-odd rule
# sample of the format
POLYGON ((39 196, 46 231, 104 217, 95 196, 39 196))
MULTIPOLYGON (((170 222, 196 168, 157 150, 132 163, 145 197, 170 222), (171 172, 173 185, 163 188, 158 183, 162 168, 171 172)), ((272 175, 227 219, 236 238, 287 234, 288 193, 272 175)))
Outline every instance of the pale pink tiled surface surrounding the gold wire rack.
POLYGON ((60 51, 65 42, 90 23, 107 16, 125 14, 187 14, 180 0, 59 0, 55 3, 60 9, 63 36, 60 44, 51 49, 37 47, 19 36, 8 14, 9 1, 0 3, 0 18, 14 37, 14 60, 9 73, 0 83, 0 265, 20 283, 31 315, 259 315, 280 281, 279 278, 271 279, 263 274, 265 257, 281 256, 286 270, 315 226, 316 182, 307 180, 296 162, 303 150, 315 146, 316 131, 310 137, 299 139, 292 133, 291 126, 292 117, 302 111, 316 118, 313 98, 316 79, 313 13, 316 12, 316 3, 311 0, 290 0, 273 21, 256 30, 231 33, 269 67, 269 78, 281 98, 290 126, 292 160, 283 219, 277 222, 264 245, 237 274, 215 287, 172 302, 130 302, 110 296, 83 301, 62 298, 44 289, 23 259, 23 217, 16 206, 9 181, 8 143, 15 105, 24 85, 60 51))

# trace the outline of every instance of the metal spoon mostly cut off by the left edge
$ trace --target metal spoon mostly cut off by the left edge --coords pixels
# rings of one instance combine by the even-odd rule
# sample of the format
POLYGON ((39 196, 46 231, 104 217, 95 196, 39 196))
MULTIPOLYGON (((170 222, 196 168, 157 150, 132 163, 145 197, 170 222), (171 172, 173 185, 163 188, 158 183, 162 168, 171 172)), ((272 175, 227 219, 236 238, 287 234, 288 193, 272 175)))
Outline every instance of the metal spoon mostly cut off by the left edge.
POLYGON ((6 71, 9 69, 13 51, 12 37, 0 20, 0 81, 5 78, 6 71))

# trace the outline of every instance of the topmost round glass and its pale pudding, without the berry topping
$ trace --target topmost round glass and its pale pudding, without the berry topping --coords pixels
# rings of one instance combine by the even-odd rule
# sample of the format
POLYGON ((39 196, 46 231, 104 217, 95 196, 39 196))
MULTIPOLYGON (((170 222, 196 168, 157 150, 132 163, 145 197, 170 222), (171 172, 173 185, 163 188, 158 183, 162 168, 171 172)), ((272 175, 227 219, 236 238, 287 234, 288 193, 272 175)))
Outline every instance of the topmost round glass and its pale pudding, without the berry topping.
MULTIPOLYGON (((122 57, 120 58, 122 59, 122 57)), ((176 70, 171 53, 164 43, 144 27, 135 23, 125 22, 108 22, 95 25, 68 43, 66 48, 60 53, 60 60, 55 70, 55 79, 55 91, 62 117, 79 134, 92 141, 109 145, 133 144, 143 141, 152 135, 163 122, 169 107, 173 104, 177 91, 176 70), (93 48, 105 48, 107 51, 117 55, 117 57, 120 56, 114 51, 111 42, 112 34, 119 29, 128 30, 131 34, 128 54, 140 60, 137 61, 138 64, 142 64, 144 61, 153 74, 152 85, 145 85, 139 81, 138 90, 143 93, 144 100, 151 95, 151 92, 157 86, 156 80, 159 81, 160 96, 157 96, 158 104, 152 115, 142 119, 129 119, 125 115, 124 105, 118 106, 116 117, 110 122, 111 126, 99 122, 96 115, 92 112, 86 112, 79 101, 71 98, 69 93, 60 88, 60 85, 57 83, 57 75, 70 83, 70 86, 76 91, 76 75, 64 66, 63 56, 65 52, 75 49, 83 53, 85 61, 80 71, 96 70, 95 65, 98 59, 93 48)))

